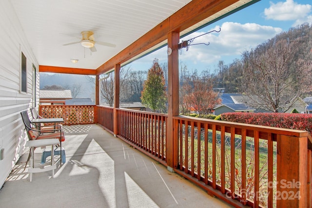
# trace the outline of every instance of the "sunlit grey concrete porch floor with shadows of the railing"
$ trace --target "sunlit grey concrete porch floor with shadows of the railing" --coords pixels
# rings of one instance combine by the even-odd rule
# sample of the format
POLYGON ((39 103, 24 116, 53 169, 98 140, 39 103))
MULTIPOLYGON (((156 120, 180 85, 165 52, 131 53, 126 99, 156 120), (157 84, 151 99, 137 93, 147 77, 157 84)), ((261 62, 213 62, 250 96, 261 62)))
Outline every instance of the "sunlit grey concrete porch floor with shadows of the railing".
POLYGON ((66 163, 59 167, 56 156, 55 178, 46 171, 29 182, 25 151, 0 190, 1 208, 231 207, 98 125, 63 128, 66 163))

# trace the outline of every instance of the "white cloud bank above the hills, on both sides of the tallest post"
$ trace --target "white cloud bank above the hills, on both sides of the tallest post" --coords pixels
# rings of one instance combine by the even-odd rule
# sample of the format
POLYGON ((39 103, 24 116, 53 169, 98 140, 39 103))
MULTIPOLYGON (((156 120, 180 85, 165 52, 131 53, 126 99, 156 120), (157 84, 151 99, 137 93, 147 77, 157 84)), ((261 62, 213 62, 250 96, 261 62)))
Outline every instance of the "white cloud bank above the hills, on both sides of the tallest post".
MULTIPOLYGON (((220 26, 215 26, 215 28, 207 28, 207 31, 204 32, 194 32, 187 37, 181 38, 180 42, 212 30, 218 31, 219 28, 220 26)), ((244 51, 256 47, 281 32, 281 28, 255 23, 224 22, 219 33, 213 32, 203 35, 195 38, 191 43, 210 43, 210 45, 190 45, 188 51, 186 51, 186 48, 181 49, 179 61, 187 63, 189 70, 207 70, 210 69, 208 67, 213 68, 219 60, 224 60, 226 64, 231 63, 234 58, 240 58, 244 51)), ((159 63, 166 62, 168 57, 167 47, 138 59, 131 65, 135 69, 148 70, 152 66, 155 57, 159 59, 159 63)))

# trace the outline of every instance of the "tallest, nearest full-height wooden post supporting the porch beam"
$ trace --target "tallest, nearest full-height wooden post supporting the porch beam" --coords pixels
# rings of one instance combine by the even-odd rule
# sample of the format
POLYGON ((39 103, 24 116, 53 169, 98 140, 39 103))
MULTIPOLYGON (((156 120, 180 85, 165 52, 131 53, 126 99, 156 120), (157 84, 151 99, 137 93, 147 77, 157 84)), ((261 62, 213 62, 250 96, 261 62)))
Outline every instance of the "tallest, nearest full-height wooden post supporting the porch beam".
POLYGON ((168 170, 173 171, 178 166, 178 122, 173 116, 179 114, 179 66, 178 66, 179 33, 172 32, 168 35, 168 120, 166 156, 168 170))

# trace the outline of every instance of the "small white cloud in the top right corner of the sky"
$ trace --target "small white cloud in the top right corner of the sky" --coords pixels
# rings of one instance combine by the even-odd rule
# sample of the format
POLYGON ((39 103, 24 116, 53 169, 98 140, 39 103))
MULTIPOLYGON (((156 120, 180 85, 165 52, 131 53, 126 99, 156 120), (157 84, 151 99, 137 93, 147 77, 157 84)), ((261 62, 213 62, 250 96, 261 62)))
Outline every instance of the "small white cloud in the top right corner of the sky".
POLYGON ((293 0, 270 2, 270 7, 264 10, 266 19, 273 20, 298 20, 306 19, 311 12, 310 4, 298 4, 293 0))

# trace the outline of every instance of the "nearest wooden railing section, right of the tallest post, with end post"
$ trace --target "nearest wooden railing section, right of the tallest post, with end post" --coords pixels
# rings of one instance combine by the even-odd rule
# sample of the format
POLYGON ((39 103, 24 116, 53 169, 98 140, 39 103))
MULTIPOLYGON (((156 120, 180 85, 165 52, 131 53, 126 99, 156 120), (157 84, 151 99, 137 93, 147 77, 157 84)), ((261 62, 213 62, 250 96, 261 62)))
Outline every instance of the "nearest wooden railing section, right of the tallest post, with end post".
POLYGON ((312 206, 307 132, 187 116, 174 120, 176 171, 211 194, 234 206, 230 199, 252 207, 312 206))

